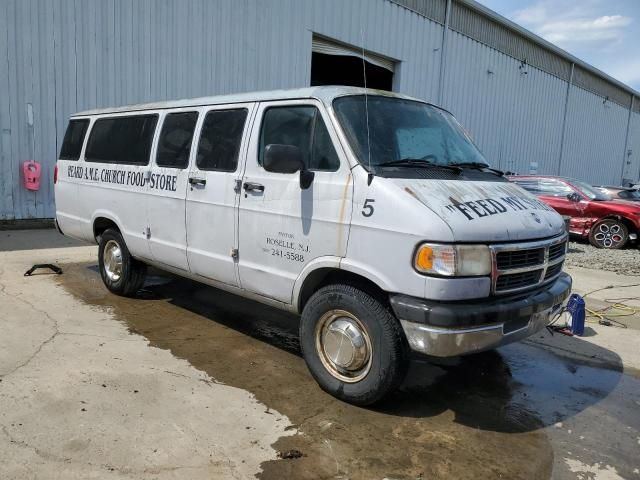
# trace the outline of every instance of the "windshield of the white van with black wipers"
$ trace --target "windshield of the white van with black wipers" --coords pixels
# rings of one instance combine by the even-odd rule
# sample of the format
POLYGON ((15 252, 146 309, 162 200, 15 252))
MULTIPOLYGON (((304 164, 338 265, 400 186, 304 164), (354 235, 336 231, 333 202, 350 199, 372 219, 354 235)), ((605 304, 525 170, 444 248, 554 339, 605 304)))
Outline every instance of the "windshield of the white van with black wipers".
POLYGON ((439 108, 378 95, 339 97, 333 107, 358 160, 372 169, 489 166, 453 115, 439 108))

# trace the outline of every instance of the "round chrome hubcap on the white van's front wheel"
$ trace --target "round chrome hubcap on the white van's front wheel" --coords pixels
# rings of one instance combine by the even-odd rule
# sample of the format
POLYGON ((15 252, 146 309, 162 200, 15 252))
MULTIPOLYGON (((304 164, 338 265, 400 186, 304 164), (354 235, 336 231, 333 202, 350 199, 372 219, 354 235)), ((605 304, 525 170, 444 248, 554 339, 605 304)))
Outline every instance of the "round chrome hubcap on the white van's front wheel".
POLYGON ((316 326, 316 351, 331 375, 344 382, 362 380, 371 369, 371 340, 364 325, 344 310, 330 310, 316 326))

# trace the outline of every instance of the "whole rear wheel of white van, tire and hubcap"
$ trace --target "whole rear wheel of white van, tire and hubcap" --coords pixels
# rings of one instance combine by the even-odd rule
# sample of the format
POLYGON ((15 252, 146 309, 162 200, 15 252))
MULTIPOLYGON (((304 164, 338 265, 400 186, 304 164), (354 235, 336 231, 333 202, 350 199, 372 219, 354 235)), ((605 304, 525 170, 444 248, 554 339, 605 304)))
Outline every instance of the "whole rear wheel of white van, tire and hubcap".
POLYGON ((108 229, 98 247, 100 276, 110 292, 130 297, 144 284, 147 266, 136 260, 118 230, 108 229))

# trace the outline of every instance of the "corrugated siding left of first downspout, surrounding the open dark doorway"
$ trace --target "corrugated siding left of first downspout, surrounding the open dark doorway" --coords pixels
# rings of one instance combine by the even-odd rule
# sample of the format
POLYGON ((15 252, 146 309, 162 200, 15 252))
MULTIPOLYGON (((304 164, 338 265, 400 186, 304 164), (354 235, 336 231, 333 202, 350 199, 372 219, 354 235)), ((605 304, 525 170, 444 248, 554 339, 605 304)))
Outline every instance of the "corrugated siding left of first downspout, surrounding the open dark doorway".
POLYGON ((307 86, 312 32, 402 61, 397 89, 435 100, 442 26, 387 1, 3 0, 0 219, 52 217, 69 115, 95 107, 307 86), (27 125, 33 104, 34 127, 27 125), (19 162, 43 164, 41 190, 19 162))

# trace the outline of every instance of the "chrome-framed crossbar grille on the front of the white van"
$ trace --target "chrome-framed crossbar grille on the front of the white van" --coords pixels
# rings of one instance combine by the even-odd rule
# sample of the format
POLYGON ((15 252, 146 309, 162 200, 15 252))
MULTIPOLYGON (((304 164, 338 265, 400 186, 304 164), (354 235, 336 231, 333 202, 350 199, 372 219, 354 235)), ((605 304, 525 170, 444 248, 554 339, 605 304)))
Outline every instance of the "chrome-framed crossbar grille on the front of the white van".
POLYGON ((493 245, 493 293, 534 288, 562 272, 567 235, 537 242, 493 245))

